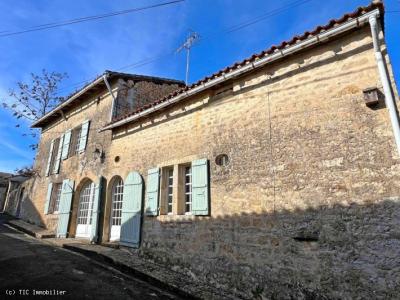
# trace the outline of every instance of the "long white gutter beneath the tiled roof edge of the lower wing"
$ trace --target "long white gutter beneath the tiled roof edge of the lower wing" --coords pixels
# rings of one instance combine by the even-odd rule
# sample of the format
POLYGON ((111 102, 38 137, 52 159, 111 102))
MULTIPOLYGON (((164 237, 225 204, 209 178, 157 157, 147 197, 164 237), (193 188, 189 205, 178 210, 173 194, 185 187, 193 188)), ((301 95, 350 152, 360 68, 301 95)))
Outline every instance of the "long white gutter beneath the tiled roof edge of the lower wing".
MULTIPOLYGON (((287 47, 285 49, 276 50, 275 53, 269 54, 269 55, 267 55, 266 57, 264 57, 262 59, 259 59, 259 60, 255 61, 255 62, 251 62, 251 63, 249 63, 249 64, 247 64, 245 66, 242 66, 242 67, 240 67, 240 68, 238 68, 238 69, 236 69, 236 70, 234 70, 234 71, 232 71, 232 72, 230 72, 228 74, 221 75, 220 77, 217 77, 217 78, 215 78, 215 79, 213 79, 211 81, 203 83, 200 86, 197 86, 197 87, 194 87, 194 88, 192 88, 192 89, 190 89, 188 91, 185 91, 180 95, 177 95, 177 96, 175 96, 175 97, 173 97, 171 99, 168 99, 167 101, 162 102, 162 103, 160 103, 160 104, 158 104, 158 105, 156 105, 154 107, 151 107, 149 109, 146 109, 146 110, 144 110, 144 111, 142 111, 142 112, 140 112, 138 114, 132 115, 130 117, 127 117, 126 119, 123 119, 123 120, 117 121, 117 122, 115 122, 113 124, 110 124, 108 126, 105 126, 105 127, 101 128, 99 130, 99 132, 102 132, 102 131, 105 131, 105 130, 110 130, 110 129, 125 125, 127 123, 130 123, 130 122, 132 122, 134 120, 137 120, 137 119, 139 119, 139 118, 141 118, 143 116, 147 116, 147 115, 149 115, 149 114, 151 114, 151 113, 153 113, 153 112, 155 112, 157 110, 165 108, 165 107, 167 107, 167 106, 169 106, 171 104, 174 104, 176 102, 179 102, 180 100, 182 100, 182 99, 184 99, 186 97, 192 96, 192 95, 200 93, 202 91, 205 91, 205 90, 209 89, 210 87, 215 86, 215 85, 217 85, 217 84, 219 84, 219 83, 221 83, 223 81, 226 81, 226 80, 229 80, 229 79, 233 79, 233 78, 237 78, 237 77, 239 77, 240 75, 242 75, 244 73, 247 73, 249 71, 261 68, 261 67, 265 66, 266 64, 269 64, 269 63, 271 63, 273 61, 281 59, 281 58, 283 58, 285 56, 294 54, 294 53, 296 53, 298 51, 301 51, 303 49, 306 49, 308 47, 320 44, 320 43, 330 39, 331 37, 339 35, 339 34, 341 34, 343 32, 346 32, 346 31, 348 31, 350 29, 361 27, 362 25, 364 25, 364 24, 369 22, 370 17, 374 17, 375 20, 376 20, 376 18, 379 17, 379 15, 380 15, 379 9, 374 9, 373 11, 370 11, 370 12, 368 12, 368 13, 360 16, 360 17, 357 17, 357 18, 355 18, 355 19, 353 19, 351 21, 348 21, 346 23, 338 25, 337 27, 334 27, 332 29, 328 29, 327 31, 321 32, 318 35, 315 35, 315 36, 313 36, 313 37, 311 37, 311 38, 309 38, 307 40, 301 41, 301 42, 299 42, 299 43, 297 43, 295 45, 289 46, 289 47, 287 47)), ((399 142, 400 142, 400 136, 399 136, 399 142)))

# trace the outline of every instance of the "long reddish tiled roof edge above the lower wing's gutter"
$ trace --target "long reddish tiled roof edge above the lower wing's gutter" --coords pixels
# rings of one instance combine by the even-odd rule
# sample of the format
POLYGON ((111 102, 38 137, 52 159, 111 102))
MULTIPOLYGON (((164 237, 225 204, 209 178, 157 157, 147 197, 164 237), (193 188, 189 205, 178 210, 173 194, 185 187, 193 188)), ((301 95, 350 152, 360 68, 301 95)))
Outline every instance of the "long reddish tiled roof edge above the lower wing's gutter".
MULTIPOLYGON (((142 107, 138 108, 137 110, 135 110, 133 112, 130 112, 129 114, 126 114, 126 115, 120 116, 118 118, 115 118, 115 119, 113 119, 112 122, 110 122, 106 126, 110 126, 110 125, 112 125, 112 124, 114 124, 114 123, 116 123, 118 121, 121 121, 121 120, 123 120, 125 118, 128 118, 130 116, 138 114, 138 113, 140 113, 140 112, 142 112, 144 110, 147 110, 147 109, 149 109, 149 108, 151 108, 153 106, 156 106, 157 104, 160 104, 162 102, 168 101, 169 99, 174 98, 174 97, 176 97, 176 96, 178 96, 180 94, 183 94, 183 93, 185 93, 185 92, 187 92, 187 91, 189 91, 189 90, 191 90, 193 88, 196 88, 196 87, 198 87, 200 85, 203 85, 208 81, 211 81, 211 80, 213 80, 213 79, 215 79, 217 77, 220 77, 220 76, 222 76, 224 74, 227 74, 227 73, 229 73, 231 71, 234 71, 234 70, 236 70, 236 69, 238 69, 240 67, 243 67, 244 65, 247 65, 249 63, 252 63, 252 62, 254 62, 256 60, 264 58, 265 56, 274 53, 276 50, 282 50, 282 49, 284 49, 286 47, 292 46, 292 45, 296 44, 297 42, 300 42, 300 41, 306 40, 306 39, 308 39, 310 37, 313 37, 315 35, 318 35, 319 33, 323 32, 323 31, 331 29, 331 28, 333 28, 333 27, 335 27, 337 25, 343 24, 343 23, 345 23, 345 22, 347 22, 347 21, 349 21, 351 19, 360 17, 360 16, 362 16, 362 15, 364 15, 364 14, 370 12, 370 11, 373 11, 374 9, 379 9, 379 10, 381 10, 381 12, 383 12, 384 6, 383 6, 383 4, 381 2, 378 2, 378 3, 372 3, 369 6, 359 7, 354 12, 347 13, 347 14, 345 14, 344 16, 342 16, 339 19, 330 20, 329 23, 324 25, 324 26, 317 26, 314 30, 306 31, 302 35, 294 36, 289 41, 283 41, 279 45, 273 45, 267 50, 261 51, 260 53, 257 53, 257 54, 253 54, 251 57, 249 57, 249 58, 247 58, 247 59, 245 59, 243 61, 236 62, 233 65, 231 65, 229 67, 226 67, 226 68, 224 68, 224 69, 222 69, 222 70, 220 70, 220 71, 218 71, 218 72, 216 72, 216 73, 214 73, 214 74, 212 74, 210 76, 204 77, 203 79, 200 79, 199 81, 197 81, 197 82, 195 82, 195 83, 193 83, 191 85, 188 85, 188 86, 185 86, 185 87, 183 87, 181 89, 178 89, 178 90, 172 92, 171 94, 163 97, 162 99, 158 99, 158 100, 156 100, 156 101, 154 101, 154 102, 152 102, 150 104, 142 106, 142 107)), ((383 16, 383 13, 381 15, 383 16)))

